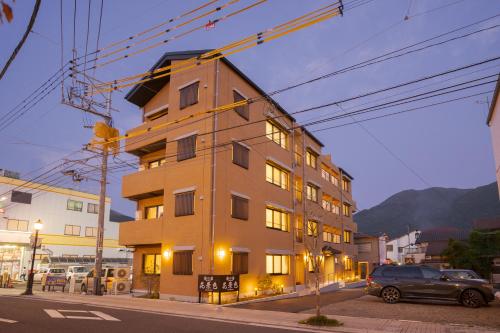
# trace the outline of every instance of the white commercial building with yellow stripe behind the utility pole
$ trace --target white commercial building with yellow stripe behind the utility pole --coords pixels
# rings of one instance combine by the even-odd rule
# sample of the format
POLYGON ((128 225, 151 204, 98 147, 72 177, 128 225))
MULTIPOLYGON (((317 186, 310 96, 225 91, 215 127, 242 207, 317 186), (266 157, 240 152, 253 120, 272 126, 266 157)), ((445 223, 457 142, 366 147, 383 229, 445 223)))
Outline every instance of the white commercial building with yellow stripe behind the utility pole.
MULTIPOLYGON (((0 176, 0 271, 13 278, 31 262, 30 237, 40 219, 41 248, 35 265, 57 262, 93 263, 96 251, 98 196, 19 179, 19 174, 0 176)), ((104 226, 104 257, 118 263, 127 253, 118 245, 118 223, 109 221, 107 198, 104 226)), ((121 260, 123 261, 123 260, 121 260)))

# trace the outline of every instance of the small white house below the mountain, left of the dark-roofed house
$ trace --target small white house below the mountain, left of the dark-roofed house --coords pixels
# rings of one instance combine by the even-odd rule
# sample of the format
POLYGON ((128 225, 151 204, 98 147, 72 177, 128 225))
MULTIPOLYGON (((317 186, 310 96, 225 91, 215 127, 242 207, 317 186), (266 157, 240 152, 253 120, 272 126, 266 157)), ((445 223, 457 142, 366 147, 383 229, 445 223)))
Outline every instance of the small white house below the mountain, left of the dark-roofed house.
POLYGON ((418 261, 419 255, 422 255, 415 245, 419 236, 420 231, 413 230, 400 237, 388 240, 386 243, 386 258, 388 261, 399 264, 418 261))

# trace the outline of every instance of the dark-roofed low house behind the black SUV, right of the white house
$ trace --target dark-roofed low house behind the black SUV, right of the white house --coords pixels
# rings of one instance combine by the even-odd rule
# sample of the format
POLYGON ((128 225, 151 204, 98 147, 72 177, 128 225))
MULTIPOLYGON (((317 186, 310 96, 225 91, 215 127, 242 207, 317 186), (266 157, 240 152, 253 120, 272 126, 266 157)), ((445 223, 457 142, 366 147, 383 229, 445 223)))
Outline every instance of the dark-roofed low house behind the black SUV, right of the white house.
POLYGON ((415 263, 426 264, 436 268, 449 268, 449 263, 443 257, 443 251, 448 247, 450 239, 456 241, 467 241, 469 232, 454 227, 440 227, 423 230, 418 237, 416 252, 422 254, 415 263))

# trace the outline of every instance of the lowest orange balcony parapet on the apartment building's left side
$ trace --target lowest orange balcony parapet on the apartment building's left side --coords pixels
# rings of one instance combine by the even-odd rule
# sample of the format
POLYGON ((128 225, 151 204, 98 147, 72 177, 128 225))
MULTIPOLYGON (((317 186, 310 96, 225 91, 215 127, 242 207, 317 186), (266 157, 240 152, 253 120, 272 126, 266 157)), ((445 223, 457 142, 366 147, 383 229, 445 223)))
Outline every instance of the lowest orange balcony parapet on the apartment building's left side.
POLYGON ((163 218, 120 223, 118 243, 124 246, 161 244, 163 218))

